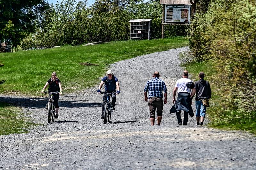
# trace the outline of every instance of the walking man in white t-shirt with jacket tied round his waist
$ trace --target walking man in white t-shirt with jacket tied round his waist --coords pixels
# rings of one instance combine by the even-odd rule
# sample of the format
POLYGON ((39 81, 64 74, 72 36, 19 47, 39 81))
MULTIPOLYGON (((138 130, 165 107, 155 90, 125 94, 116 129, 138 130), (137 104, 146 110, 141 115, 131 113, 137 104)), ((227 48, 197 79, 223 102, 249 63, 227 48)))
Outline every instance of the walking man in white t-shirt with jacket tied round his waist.
POLYGON ((191 82, 190 79, 188 79, 188 71, 183 71, 182 78, 177 80, 174 89, 173 89, 173 100, 172 103, 176 102, 176 116, 178 119, 178 124, 182 125, 182 119, 181 119, 181 110, 184 111, 184 119, 183 119, 183 125, 187 125, 188 123, 188 114, 189 112, 192 112, 193 110, 191 107, 191 98, 190 98, 190 92, 191 89, 188 88, 186 85, 188 82, 191 82), (177 101, 175 99, 176 93, 178 90, 178 97, 177 101))

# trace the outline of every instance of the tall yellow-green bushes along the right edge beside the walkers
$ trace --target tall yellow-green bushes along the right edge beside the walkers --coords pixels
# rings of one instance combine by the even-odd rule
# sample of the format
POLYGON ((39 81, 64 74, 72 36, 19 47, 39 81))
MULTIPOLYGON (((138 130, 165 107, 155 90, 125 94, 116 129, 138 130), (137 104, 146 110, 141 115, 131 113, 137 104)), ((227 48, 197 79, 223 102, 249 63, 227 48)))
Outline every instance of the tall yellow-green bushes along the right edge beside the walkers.
POLYGON ((215 125, 238 126, 256 118, 255 18, 255 1, 217 0, 192 21, 191 52, 197 61, 215 60, 213 79, 223 91, 220 108, 212 112, 215 125))

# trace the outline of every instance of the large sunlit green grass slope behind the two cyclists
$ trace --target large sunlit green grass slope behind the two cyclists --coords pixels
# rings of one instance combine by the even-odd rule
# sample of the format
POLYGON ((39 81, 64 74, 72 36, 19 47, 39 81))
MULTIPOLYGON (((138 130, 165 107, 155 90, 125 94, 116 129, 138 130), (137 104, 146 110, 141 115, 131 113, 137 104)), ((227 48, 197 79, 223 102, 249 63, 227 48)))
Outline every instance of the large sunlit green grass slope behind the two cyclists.
POLYGON ((0 93, 18 92, 40 95, 53 71, 57 72, 64 92, 85 89, 100 82, 111 63, 135 56, 187 46, 185 37, 157 40, 118 41, 92 46, 63 46, 55 49, 1 53, 0 93), (98 66, 84 66, 88 62, 98 66))

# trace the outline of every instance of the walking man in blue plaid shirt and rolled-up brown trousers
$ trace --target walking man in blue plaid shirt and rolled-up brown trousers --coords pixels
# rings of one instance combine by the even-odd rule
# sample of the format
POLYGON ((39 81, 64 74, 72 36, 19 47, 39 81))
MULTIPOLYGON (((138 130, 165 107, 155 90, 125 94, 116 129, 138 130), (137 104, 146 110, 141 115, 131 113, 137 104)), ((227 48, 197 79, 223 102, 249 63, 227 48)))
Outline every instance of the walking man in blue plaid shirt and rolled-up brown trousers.
POLYGON ((150 111, 150 123, 151 126, 155 124, 155 111, 157 109, 157 125, 159 126, 163 115, 163 106, 167 103, 167 88, 163 80, 159 79, 159 72, 155 71, 153 79, 146 83, 144 88, 145 101, 148 101, 150 111), (149 95, 149 100, 147 96, 149 95), (163 104, 163 92, 164 92, 164 104, 163 104))

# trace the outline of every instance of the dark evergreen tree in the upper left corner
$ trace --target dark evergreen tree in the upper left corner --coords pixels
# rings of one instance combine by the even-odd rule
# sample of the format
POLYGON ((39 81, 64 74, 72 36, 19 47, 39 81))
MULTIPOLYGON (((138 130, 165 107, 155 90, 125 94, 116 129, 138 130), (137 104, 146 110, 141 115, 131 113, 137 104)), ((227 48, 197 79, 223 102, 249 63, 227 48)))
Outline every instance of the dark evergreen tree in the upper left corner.
POLYGON ((0 40, 17 47, 28 33, 35 32, 48 6, 44 0, 0 0, 0 40))

